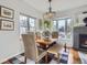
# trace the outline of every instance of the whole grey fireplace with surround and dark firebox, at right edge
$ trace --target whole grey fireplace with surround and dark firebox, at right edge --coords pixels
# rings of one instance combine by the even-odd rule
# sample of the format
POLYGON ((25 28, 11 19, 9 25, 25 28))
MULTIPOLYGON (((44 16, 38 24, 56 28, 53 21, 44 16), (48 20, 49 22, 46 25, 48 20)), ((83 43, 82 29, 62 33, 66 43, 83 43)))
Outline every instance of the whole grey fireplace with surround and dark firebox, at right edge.
POLYGON ((73 47, 87 51, 87 26, 74 28, 73 47))

